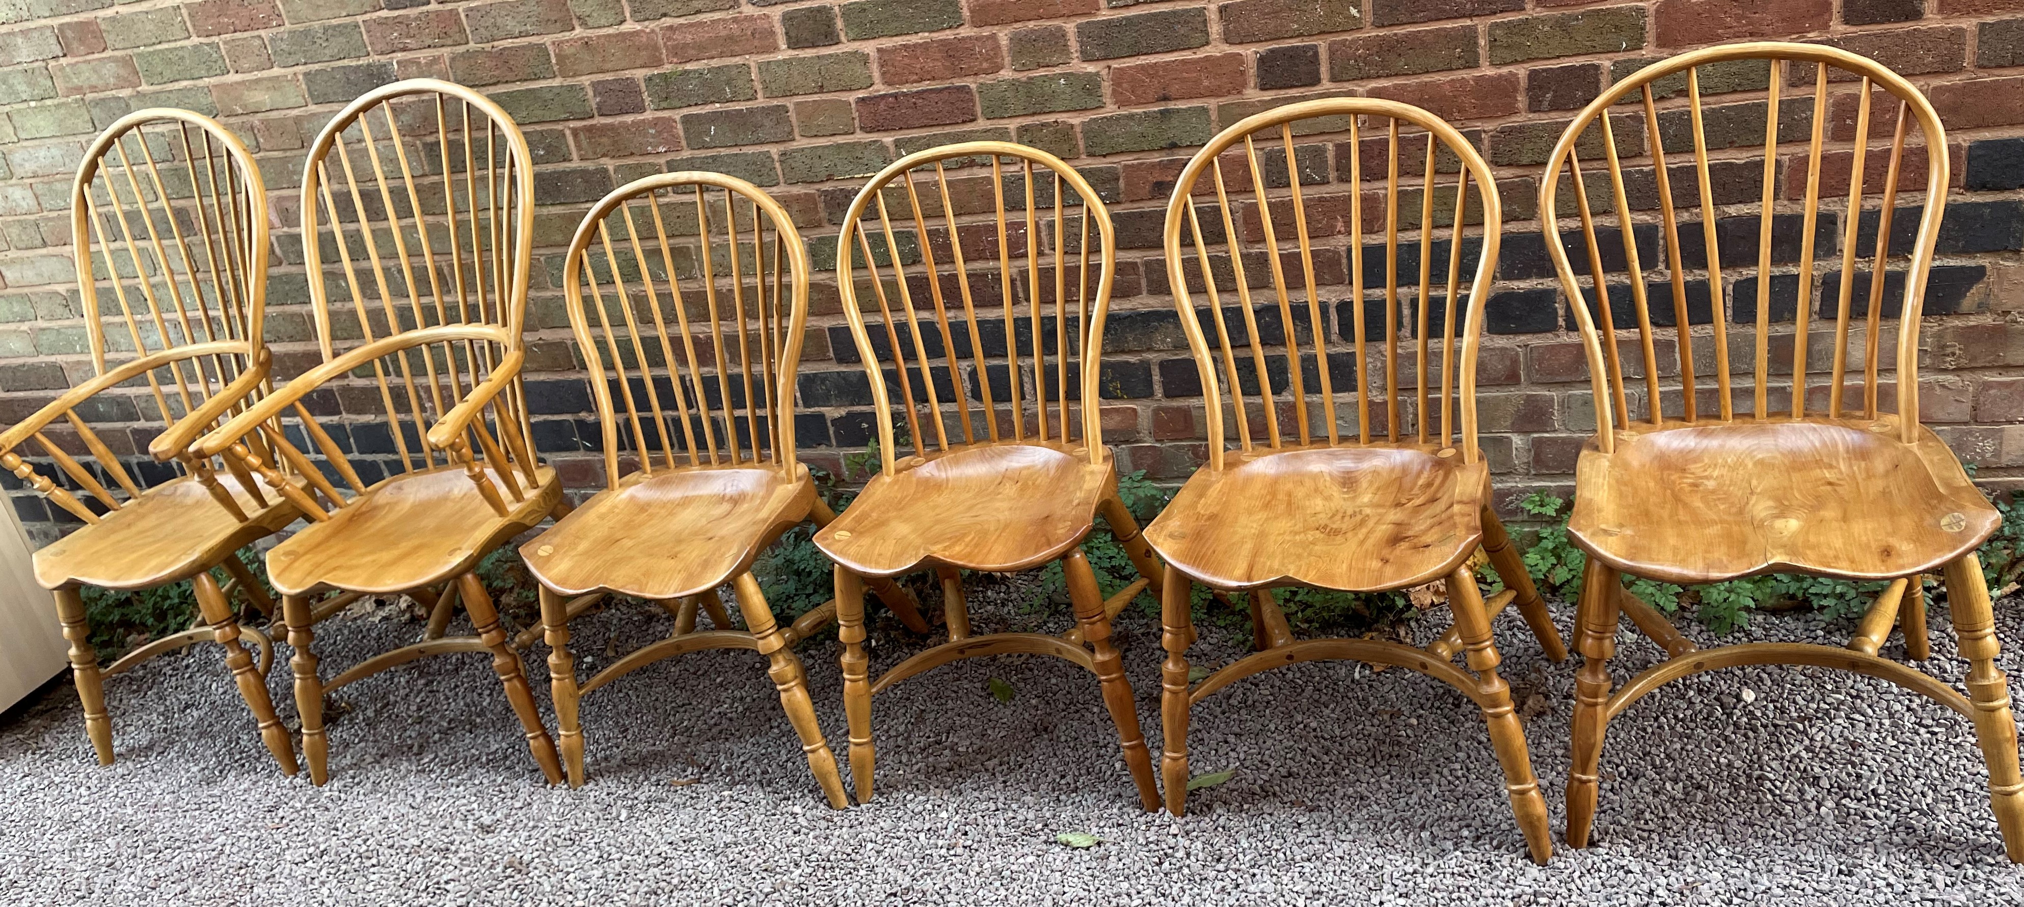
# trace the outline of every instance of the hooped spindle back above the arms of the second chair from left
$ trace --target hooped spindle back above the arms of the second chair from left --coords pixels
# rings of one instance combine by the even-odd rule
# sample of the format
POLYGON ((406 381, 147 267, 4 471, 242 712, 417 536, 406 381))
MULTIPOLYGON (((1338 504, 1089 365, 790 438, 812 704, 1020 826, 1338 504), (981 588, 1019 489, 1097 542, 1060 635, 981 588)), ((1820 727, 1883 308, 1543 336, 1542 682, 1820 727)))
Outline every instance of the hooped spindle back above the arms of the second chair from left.
POLYGON ((405 79, 366 91, 310 146, 302 247, 326 362, 336 358, 324 273, 330 265, 344 275, 366 342, 376 338, 370 316, 387 318, 389 334, 401 332, 405 316, 413 326, 494 324, 518 348, 534 255, 534 156, 526 136, 490 97, 449 81, 405 79), (405 97, 423 103, 397 115, 395 101, 405 97), (429 221, 447 231, 431 235, 429 221), (328 255, 324 229, 338 239, 328 255), (447 249, 437 245, 445 239, 447 249), (401 302, 409 312, 399 312, 401 302))

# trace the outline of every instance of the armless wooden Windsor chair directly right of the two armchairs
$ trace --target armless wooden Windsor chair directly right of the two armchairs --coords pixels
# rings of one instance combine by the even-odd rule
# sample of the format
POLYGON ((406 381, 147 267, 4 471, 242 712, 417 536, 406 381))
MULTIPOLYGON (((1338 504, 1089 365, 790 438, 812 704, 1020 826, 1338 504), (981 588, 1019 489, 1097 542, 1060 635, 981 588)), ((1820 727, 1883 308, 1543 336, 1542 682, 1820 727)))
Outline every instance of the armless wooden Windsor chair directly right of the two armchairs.
MULTIPOLYGON (((781 532, 836 516, 793 456, 808 277, 808 251, 787 211, 735 176, 648 176, 607 194, 577 227, 563 285, 603 423, 605 490, 520 547, 540 581, 573 788, 583 786, 577 705, 587 692, 662 658, 743 648, 767 658, 830 804, 850 806, 793 654, 795 642, 836 620, 836 603, 779 628, 751 575, 781 532), (725 611, 719 587, 727 583, 745 632, 725 611), (674 634, 579 682, 569 620, 609 595, 660 603, 674 615, 674 634), (710 630, 696 630, 698 607, 710 630)), ((880 597, 917 613, 891 581, 880 583, 880 597)))

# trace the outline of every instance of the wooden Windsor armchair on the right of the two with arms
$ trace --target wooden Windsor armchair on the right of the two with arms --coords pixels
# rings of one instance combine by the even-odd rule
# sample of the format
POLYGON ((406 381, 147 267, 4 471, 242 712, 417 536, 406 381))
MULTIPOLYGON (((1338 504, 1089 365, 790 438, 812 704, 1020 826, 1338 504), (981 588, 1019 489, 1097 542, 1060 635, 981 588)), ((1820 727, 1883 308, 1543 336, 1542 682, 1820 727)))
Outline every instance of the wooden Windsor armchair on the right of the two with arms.
POLYGON ((526 140, 472 89, 409 79, 346 105, 302 174, 324 362, 194 445, 312 520, 267 553, 267 577, 283 595, 316 784, 328 779, 324 696, 441 652, 492 654, 528 749, 551 784, 563 779, 520 654, 474 573, 486 553, 567 510, 555 470, 528 445, 520 389, 532 192, 526 140), (336 340, 350 336, 360 344, 340 354, 336 340), (425 638, 326 682, 314 626, 391 593, 431 609, 425 638), (457 603, 472 636, 443 636, 457 603))

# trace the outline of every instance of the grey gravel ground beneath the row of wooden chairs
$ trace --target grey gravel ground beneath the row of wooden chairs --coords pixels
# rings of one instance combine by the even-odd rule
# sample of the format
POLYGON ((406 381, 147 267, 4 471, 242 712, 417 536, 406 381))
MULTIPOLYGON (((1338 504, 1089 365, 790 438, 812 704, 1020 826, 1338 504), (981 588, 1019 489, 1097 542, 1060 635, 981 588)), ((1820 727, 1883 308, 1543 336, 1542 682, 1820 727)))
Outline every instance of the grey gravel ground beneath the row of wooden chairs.
MULTIPOLYGON (((980 632, 1030 620, 980 599, 980 632)), ((1998 605, 2014 674, 2018 605, 1998 605)), ((1554 613, 1569 632, 1573 609, 1554 613)), ((1933 626, 1943 617, 1935 607, 1933 626)), ((603 662, 607 646, 625 652, 666 622, 638 609, 587 615, 577 652, 603 662)), ((1542 696, 1526 735, 1558 834, 1575 664, 1546 664, 1514 613, 1496 630, 1506 676, 1542 696)), ((326 624, 318 652, 328 676, 417 634, 383 609, 326 624)), ((1779 615, 1739 636, 1838 644, 1846 634, 1779 615)), ((1158 628, 1131 611, 1117 638, 1158 759, 1158 628)), ((891 626, 874 640, 874 672, 919 646, 891 626)), ((1660 658, 1629 632, 1623 642, 1619 678, 1660 658)), ((1933 650, 1929 668, 1959 684, 1951 634, 1933 650)), ((1194 713, 1194 769, 1235 777, 1196 792, 1176 820, 1137 810, 1097 684, 1052 660, 959 662, 882 694, 878 798, 832 812, 749 652, 662 662, 589 696, 591 781, 575 792, 542 784, 482 656, 338 690, 332 779, 318 790, 306 773, 275 771, 217 652, 192 652, 109 682, 113 767, 93 763, 67 684, 0 725, 0 903, 2024 899, 1967 721, 1816 668, 1702 674, 1639 703, 1611 727, 1595 846, 1561 846, 1532 867, 1478 711, 1407 670, 1301 664, 1210 698, 1194 713), (998 703, 992 678, 1016 696, 998 703), (1101 844, 1073 850, 1059 832, 1101 844)), ((802 650, 842 759, 836 654, 834 636, 802 650)), ((1218 664, 1239 652, 1204 640, 1194 654, 1218 664)), ((1903 646, 1882 654, 1903 658, 1903 646)), ((526 658, 542 703, 544 656, 536 646, 526 658)), ((287 682, 285 666, 269 678, 293 721, 287 682)))

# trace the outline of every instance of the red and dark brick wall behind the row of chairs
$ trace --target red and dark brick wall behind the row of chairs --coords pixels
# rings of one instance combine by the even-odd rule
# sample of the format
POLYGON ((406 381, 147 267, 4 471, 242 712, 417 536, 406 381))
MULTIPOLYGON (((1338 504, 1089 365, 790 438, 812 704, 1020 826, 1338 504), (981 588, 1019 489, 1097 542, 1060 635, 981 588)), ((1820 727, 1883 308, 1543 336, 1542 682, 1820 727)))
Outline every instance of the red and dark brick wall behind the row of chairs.
MULTIPOLYGON (((1241 115, 1320 95, 1427 105, 1496 164, 1506 235, 1522 237, 1538 233, 1526 219, 1552 138, 1609 79, 1708 43, 1803 38, 1872 55, 1939 105, 1961 217, 1935 308, 1957 314, 1925 334, 1925 417, 1984 478, 2024 474, 2018 0, 10 0, 0 20, 0 421, 89 373, 63 207, 83 144, 138 105, 225 119, 285 213, 304 144, 346 99, 397 77, 463 81, 532 142, 549 259, 591 200, 664 168, 769 186, 820 249, 856 176, 945 140, 1008 138, 1069 158, 1115 202, 1115 308, 1172 312, 1148 294, 1164 283, 1168 180, 1241 115)), ((565 451, 593 417, 561 294, 542 285, 559 267, 534 273, 528 381, 544 451, 597 482, 565 451)), ((296 362, 312 348, 302 287, 300 267, 275 269, 269 338, 296 362)), ((1540 312, 1492 324, 1484 350, 1484 443, 1504 492, 1565 488, 1589 429, 1575 336, 1532 298, 1540 312)), ((834 300, 818 290, 824 318, 834 300)), ((1148 328, 1107 340, 1131 395, 1105 413, 1107 439, 1125 468, 1178 480, 1200 456, 1198 399, 1164 399, 1160 362, 1186 350, 1156 316, 1133 322, 1148 328)), ((53 537, 47 510, 12 490, 53 537)))

